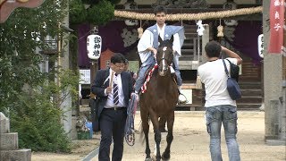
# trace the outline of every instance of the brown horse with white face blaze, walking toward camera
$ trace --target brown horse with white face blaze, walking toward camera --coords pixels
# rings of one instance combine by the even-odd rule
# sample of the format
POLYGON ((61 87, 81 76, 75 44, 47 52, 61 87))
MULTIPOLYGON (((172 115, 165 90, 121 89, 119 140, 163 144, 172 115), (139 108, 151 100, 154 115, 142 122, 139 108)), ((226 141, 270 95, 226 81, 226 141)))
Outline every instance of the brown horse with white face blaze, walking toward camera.
POLYGON ((160 46, 156 54, 158 68, 153 72, 151 80, 147 84, 147 91, 140 95, 139 106, 142 120, 143 132, 146 140, 146 160, 151 160, 148 141, 150 119, 153 123, 156 141, 156 160, 161 159, 160 142, 161 132, 159 130, 159 118, 167 121, 167 147, 164 150, 162 159, 170 158, 170 147, 172 143, 172 126, 174 122, 174 108, 178 102, 177 84, 173 79, 169 66, 172 64, 173 51, 172 40, 158 38, 160 46))

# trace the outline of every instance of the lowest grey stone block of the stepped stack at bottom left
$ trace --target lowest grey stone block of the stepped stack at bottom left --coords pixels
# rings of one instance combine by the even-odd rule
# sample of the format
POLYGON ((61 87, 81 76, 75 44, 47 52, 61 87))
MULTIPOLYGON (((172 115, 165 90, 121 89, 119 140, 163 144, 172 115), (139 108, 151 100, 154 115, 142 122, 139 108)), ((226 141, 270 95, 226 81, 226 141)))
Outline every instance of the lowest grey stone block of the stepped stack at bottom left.
POLYGON ((30 161, 31 160, 31 150, 27 148, 22 148, 18 150, 0 150, 0 160, 3 161, 30 161))

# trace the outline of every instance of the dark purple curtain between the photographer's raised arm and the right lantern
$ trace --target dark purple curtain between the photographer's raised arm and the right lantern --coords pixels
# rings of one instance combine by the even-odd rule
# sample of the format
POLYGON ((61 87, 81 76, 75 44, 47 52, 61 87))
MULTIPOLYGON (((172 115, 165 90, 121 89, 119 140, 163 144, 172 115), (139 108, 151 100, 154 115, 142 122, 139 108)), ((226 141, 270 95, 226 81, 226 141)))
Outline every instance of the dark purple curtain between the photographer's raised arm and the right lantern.
POLYGON ((261 33, 261 21, 239 21, 234 31, 235 38, 228 42, 243 55, 250 57, 254 64, 260 64, 261 57, 258 55, 257 38, 261 33))

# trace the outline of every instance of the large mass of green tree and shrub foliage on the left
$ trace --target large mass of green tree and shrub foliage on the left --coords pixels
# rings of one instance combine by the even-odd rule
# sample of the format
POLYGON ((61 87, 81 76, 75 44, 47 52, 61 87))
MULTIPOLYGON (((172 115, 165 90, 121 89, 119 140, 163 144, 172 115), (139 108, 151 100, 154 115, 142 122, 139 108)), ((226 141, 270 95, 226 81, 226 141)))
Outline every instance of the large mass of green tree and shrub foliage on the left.
POLYGON ((70 80, 63 79, 62 86, 55 86, 49 80, 55 73, 40 71, 39 64, 44 60, 36 52, 37 48, 47 48, 46 36, 56 38, 62 32, 58 24, 67 15, 68 3, 46 0, 36 9, 18 8, 0 24, 0 111, 10 116, 12 130, 19 132, 21 148, 69 151, 69 140, 60 123, 63 112, 51 97, 72 88, 76 83, 71 78, 77 81, 78 75, 59 72, 70 80))

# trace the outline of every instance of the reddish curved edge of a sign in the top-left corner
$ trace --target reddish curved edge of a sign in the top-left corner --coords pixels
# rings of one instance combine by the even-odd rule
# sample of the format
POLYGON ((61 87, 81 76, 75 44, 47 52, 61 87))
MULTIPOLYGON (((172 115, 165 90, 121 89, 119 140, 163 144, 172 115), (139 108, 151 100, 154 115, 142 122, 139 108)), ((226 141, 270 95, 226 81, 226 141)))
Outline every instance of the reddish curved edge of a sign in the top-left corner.
POLYGON ((0 0, 0 23, 6 21, 17 7, 35 8, 45 0, 0 0))

